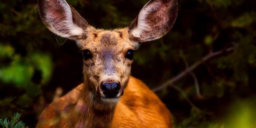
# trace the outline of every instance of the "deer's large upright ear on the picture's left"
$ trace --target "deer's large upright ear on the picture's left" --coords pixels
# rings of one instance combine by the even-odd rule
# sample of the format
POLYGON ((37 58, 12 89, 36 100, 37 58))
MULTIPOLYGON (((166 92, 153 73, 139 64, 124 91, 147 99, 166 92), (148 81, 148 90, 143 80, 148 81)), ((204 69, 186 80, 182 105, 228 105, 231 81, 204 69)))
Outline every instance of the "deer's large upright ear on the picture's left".
POLYGON ((89 24, 65 0, 38 0, 38 11, 53 33, 73 40, 84 38, 89 24))

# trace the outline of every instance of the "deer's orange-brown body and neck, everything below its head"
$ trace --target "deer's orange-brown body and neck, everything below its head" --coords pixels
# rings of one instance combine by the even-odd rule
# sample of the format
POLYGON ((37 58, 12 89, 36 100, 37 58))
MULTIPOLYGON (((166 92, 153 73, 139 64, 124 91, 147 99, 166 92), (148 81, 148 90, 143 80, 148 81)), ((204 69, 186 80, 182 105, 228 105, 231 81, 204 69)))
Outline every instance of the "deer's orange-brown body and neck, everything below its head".
POLYGON ((39 117, 37 128, 172 128, 168 109, 134 77, 116 107, 93 103, 86 87, 80 84, 50 104, 39 117))

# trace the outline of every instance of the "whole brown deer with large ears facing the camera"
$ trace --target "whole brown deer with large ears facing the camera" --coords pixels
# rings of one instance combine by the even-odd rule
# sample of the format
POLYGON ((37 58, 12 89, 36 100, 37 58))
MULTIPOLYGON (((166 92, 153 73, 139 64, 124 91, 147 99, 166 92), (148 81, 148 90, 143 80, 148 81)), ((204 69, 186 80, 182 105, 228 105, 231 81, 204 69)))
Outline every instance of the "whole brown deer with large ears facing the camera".
POLYGON ((122 29, 96 29, 65 0, 38 0, 38 12, 56 35, 75 40, 83 54, 84 82, 59 96, 36 128, 172 128, 171 112, 131 76, 134 51, 172 28, 177 0, 150 0, 122 29))

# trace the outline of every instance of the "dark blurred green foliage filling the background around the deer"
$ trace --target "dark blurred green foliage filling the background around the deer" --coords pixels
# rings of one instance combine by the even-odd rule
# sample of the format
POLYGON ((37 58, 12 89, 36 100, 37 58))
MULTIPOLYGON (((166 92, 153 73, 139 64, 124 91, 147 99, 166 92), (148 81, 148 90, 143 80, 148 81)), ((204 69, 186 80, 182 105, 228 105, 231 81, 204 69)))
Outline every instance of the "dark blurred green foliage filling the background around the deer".
MULTIPOLYGON (((97 28, 128 27, 148 0, 67 0, 97 28)), ((211 51, 236 46, 175 83, 200 110, 172 87, 157 94, 174 115, 176 128, 255 128, 256 1, 179 0, 172 30, 143 43, 132 75, 150 88, 161 85, 211 51), (181 56, 182 53, 182 56, 181 56)), ((0 117, 20 112, 34 127, 57 87, 67 92, 82 82, 82 56, 74 41, 52 34, 35 0, 0 1, 0 117), (60 45, 59 45, 60 44, 60 45)))

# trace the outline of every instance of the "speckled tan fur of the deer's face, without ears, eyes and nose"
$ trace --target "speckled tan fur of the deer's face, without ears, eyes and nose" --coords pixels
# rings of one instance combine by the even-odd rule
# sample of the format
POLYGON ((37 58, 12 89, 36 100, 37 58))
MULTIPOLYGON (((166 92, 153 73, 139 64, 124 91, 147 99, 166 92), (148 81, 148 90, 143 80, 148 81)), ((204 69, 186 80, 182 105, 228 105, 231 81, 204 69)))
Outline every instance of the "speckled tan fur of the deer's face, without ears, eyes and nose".
POLYGON ((132 60, 125 58, 128 50, 137 50, 138 42, 131 41, 128 30, 102 30, 89 27, 87 38, 77 40, 81 50, 89 50, 92 58, 84 60, 84 77, 97 93, 100 82, 111 79, 120 82, 121 89, 127 85, 132 60))

